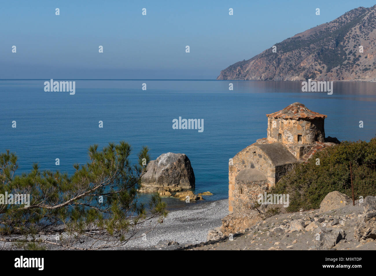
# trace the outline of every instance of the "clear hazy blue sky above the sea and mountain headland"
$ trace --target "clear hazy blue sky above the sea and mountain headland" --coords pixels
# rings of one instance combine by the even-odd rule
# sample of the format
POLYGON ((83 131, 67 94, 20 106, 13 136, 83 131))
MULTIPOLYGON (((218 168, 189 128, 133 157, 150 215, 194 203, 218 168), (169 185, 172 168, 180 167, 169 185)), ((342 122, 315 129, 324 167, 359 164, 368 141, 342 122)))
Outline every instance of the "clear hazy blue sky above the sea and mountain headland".
POLYGON ((3 1, 0 78, 214 79, 227 66, 276 42, 374 4, 368 0, 3 1), (60 15, 55 15, 55 8, 60 15), (146 16, 142 8, 147 9, 146 16), (17 53, 12 53, 12 45, 17 53), (98 52, 99 45, 103 53, 98 52), (185 53, 186 45, 190 53, 185 53))

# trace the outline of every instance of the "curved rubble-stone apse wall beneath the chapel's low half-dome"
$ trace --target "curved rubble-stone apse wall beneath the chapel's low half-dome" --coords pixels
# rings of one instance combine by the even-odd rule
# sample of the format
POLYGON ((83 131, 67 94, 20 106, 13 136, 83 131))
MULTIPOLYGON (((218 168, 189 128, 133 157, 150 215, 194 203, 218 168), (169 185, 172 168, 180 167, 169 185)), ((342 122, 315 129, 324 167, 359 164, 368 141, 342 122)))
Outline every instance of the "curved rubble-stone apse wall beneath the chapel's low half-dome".
POLYGON ((242 213, 250 210, 252 203, 257 201, 259 194, 268 189, 266 180, 245 181, 235 179, 233 213, 242 213))

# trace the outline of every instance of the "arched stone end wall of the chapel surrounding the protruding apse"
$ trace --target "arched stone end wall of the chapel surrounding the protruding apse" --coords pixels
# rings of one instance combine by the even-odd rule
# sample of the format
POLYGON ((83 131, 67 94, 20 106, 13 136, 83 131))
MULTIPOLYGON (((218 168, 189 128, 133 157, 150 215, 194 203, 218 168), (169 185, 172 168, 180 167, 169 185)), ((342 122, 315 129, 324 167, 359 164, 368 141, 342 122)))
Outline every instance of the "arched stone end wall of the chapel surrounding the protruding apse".
POLYGON ((255 145, 238 152, 229 161, 229 212, 232 213, 235 200, 235 178, 243 169, 257 169, 264 173, 268 186, 275 184, 275 168, 271 160, 265 156, 264 152, 255 145))

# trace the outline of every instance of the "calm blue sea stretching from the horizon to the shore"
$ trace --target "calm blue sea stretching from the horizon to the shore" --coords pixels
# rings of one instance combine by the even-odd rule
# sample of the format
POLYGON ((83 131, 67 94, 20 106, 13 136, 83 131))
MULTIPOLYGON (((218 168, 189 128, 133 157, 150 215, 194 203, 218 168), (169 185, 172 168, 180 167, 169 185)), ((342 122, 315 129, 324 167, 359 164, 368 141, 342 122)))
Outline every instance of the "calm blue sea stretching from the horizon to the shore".
POLYGON ((72 173, 72 164, 88 161, 89 145, 126 140, 135 160, 144 145, 152 159, 185 153, 196 192, 210 191, 214 195, 206 199, 217 200, 228 196, 229 158, 266 137, 265 114, 291 103, 326 114, 326 136, 368 141, 376 133, 376 83, 334 82, 333 95, 327 95, 302 92, 301 82, 290 81, 76 80, 76 94, 69 95, 44 92, 47 80, 0 80, 0 152, 18 155, 19 173, 33 162, 72 173), (203 119, 204 131, 174 130, 172 121, 179 116, 203 119))

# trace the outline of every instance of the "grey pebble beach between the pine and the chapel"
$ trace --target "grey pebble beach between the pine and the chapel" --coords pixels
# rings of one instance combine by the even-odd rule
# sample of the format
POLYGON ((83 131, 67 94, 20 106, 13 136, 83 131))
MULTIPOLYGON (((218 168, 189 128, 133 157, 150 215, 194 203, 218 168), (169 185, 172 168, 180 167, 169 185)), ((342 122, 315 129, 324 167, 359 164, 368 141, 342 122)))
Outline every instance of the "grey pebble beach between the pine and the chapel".
MULTIPOLYGON (((221 219, 228 214, 228 200, 207 201, 192 203, 191 206, 170 210, 167 217, 163 219, 152 231, 144 237, 129 240, 120 247, 106 247, 105 250, 128 250, 128 249, 151 249, 151 250, 173 250, 182 247, 185 244, 198 244, 206 242, 209 229, 221 226, 221 219), (168 242, 166 242, 166 240, 168 242), (173 244, 166 247, 156 247, 160 243, 173 244), (175 242, 175 243, 174 243, 175 242), (179 244, 176 244, 179 243, 179 244)), ((155 222, 154 219, 153 222, 155 222)), ((139 232, 142 233, 142 232, 139 232)), ((63 234, 64 235, 64 234, 63 234)), ((39 238, 55 242, 55 235, 39 235, 39 238)), ((103 245, 104 241, 98 241, 96 247, 103 245)), ((17 247, 9 242, 0 242, 0 246, 5 250, 14 250, 17 247)), ((60 246, 47 244, 46 249, 61 249, 60 246)), ((92 246, 92 240, 82 237, 75 246, 89 249, 92 246)))

